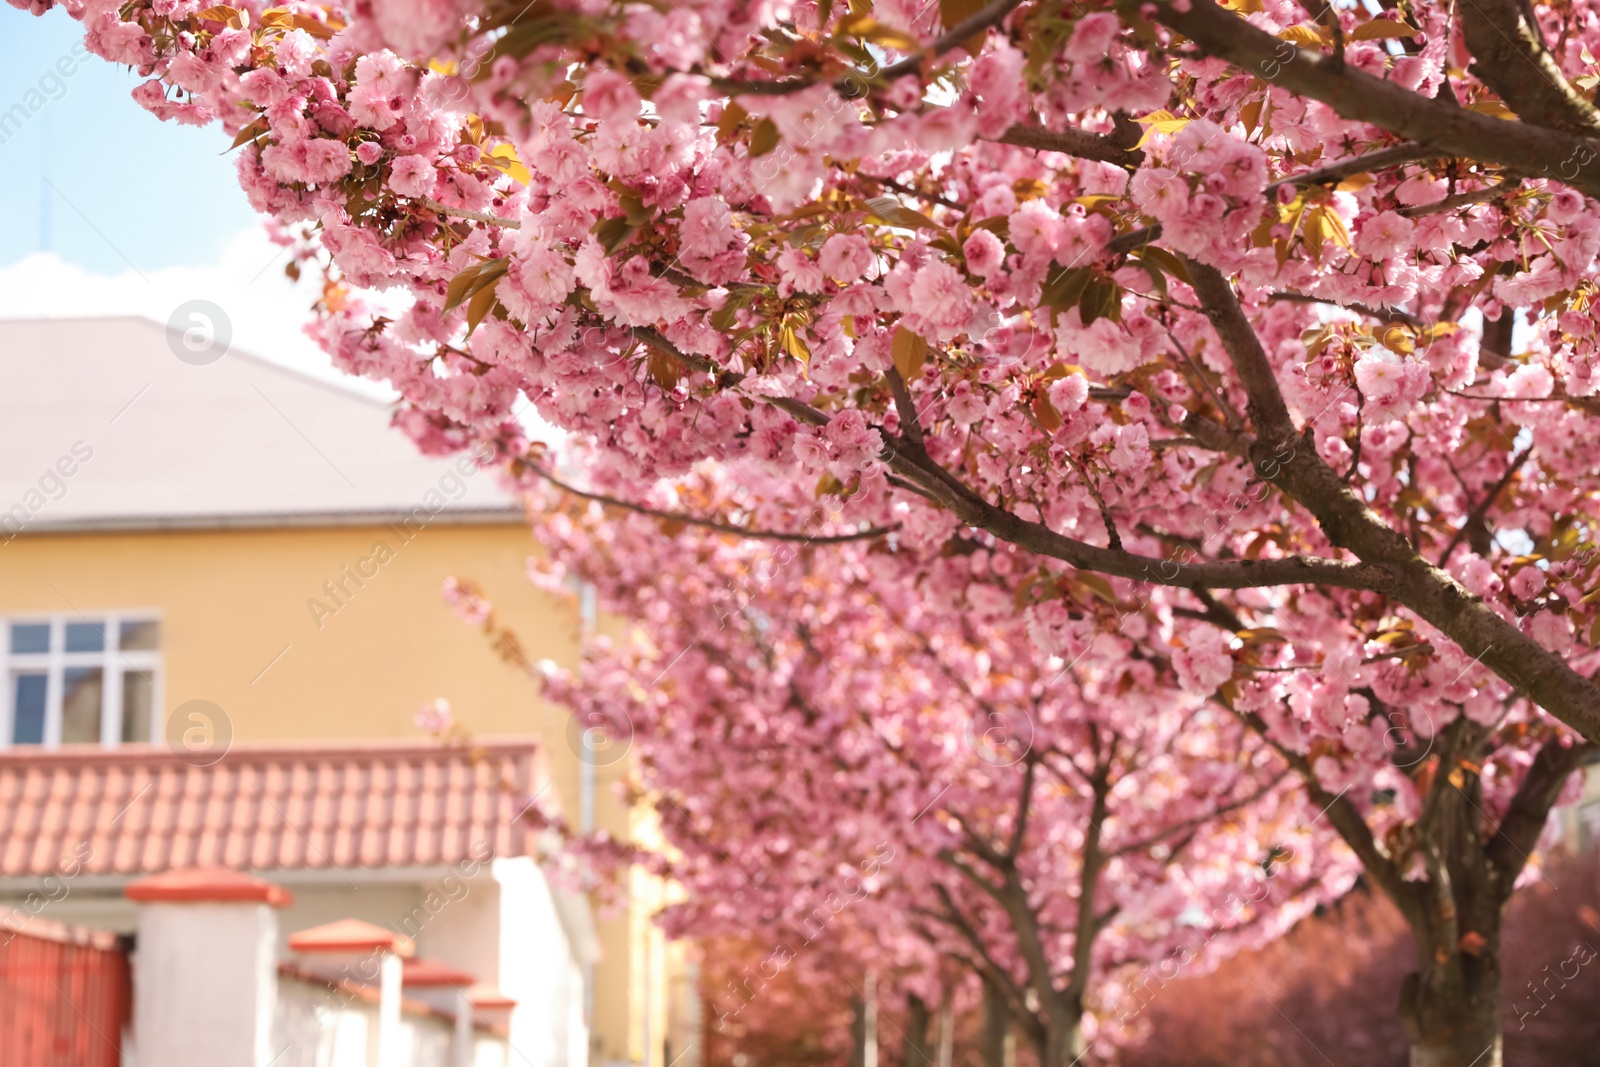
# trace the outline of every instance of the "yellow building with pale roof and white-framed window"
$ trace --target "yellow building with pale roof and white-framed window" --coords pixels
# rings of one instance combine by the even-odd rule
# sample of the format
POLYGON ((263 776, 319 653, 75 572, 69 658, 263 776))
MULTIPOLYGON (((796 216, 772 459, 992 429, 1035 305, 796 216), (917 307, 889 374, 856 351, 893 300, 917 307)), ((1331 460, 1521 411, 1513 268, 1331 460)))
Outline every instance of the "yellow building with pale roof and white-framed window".
MULTIPOLYGON (((531 587, 493 470, 421 456, 382 402, 242 352, 195 362, 138 318, 3 323, 0 376, 0 747, 419 739, 443 697, 474 736, 538 736, 573 824, 638 830, 627 760, 581 758, 440 595, 470 579, 531 659, 576 656, 579 598, 531 587)), ((658 904, 635 877, 597 917, 590 1064, 698 1062, 658 904)))

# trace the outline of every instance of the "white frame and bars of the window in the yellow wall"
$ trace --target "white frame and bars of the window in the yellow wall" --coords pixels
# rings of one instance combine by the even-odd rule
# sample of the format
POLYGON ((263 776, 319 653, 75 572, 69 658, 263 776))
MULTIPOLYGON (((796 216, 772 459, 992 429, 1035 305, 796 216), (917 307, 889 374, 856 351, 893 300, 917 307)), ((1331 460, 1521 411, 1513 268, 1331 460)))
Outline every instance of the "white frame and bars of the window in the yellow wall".
POLYGON ((101 736, 104 749, 115 749, 122 741, 122 691, 123 675, 133 672, 150 673, 150 736, 134 741, 157 741, 163 728, 163 683, 165 664, 162 662, 160 641, 154 649, 114 649, 112 643, 122 645, 123 622, 155 622, 160 625, 162 641, 166 640, 166 624, 160 611, 96 611, 91 614, 18 614, 0 616, 0 680, 5 691, 0 694, 0 749, 58 749, 61 747, 61 704, 66 688, 66 672, 72 667, 101 669, 101 736), (106 646, 98 653, 69 653, 67 624, 90 622, 99 624, 106 630, 106 646), (46 653, 13 653, 13 625, 48 625, 50 651, 46 653), (45 672, 45 737, 43 742, 14 744, 16 726, 16 675, 45 672))

